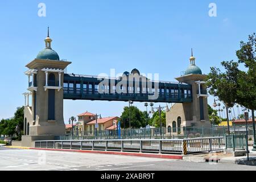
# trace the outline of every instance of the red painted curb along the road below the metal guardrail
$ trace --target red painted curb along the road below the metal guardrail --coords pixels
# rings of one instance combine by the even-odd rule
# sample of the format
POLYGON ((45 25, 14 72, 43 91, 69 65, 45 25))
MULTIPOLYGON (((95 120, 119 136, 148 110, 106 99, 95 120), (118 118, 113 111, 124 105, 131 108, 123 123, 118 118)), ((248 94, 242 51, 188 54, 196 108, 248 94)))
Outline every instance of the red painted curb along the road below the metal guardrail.
POLYGON ((49 150, 49 151, 64 151, 64 152, 81 152, 81 153, 93 153, 93 154, 112 154, 112 155, 127 155, 138 156, 146 158, 161 158, 161 159, 183 159, 181 155, 168 155, 168 154, 144 154, 144 153, 132 153, 132 152, 115 152, 115 151, 95 151, 95 150, 74 150, 74 149, 61 149, 61 148, 33 148, 33 150, 49 150))

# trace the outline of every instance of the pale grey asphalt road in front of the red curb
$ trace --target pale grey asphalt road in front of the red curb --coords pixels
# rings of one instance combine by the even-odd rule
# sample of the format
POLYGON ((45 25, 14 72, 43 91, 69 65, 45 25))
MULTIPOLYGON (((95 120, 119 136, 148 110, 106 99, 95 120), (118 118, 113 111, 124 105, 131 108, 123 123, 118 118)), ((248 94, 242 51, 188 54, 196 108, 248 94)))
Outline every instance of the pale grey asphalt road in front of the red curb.
POLYGON ((183 160, 142 158, 122 155, 87 154, 43 150, 18 150, 0 147, 0 170, 255 171, 256 167, 222 163, 195 163, 185 162, 183 160))

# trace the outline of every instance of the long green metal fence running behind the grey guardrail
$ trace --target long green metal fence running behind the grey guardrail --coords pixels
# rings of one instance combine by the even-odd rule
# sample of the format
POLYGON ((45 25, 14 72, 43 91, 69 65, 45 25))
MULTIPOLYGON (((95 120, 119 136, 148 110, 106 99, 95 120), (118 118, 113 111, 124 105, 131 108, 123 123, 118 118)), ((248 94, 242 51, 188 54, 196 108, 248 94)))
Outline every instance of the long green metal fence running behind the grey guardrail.
MULTIPOLYGON (((208 127, 181 127, 173 133, 173 130, 162 128, 162 135, 160 128, 153 129, 121 129, 121 138, 123 139, 174 139, 174 138, 197 138, 197 137, 224 137, 228 135, 228 127, 224 126, 208 126, 208 127), (171 132, 170 132, 171 131, 171 132), (161 137, 162 136, 162 137, 161 137)), ((253 128, 248 127, 249 136, 253 135, 253 128)), ((243 126, 230 126, 230 134, 245 135, 246 128, 243 126)), ((74 129, 73 137, 84 137, 84 139, 118 139, 118 130, 94 130, 84 131, 78 133, 74 129)), ((71 137, 71 133, 66 134, 65 137, 71 137)))

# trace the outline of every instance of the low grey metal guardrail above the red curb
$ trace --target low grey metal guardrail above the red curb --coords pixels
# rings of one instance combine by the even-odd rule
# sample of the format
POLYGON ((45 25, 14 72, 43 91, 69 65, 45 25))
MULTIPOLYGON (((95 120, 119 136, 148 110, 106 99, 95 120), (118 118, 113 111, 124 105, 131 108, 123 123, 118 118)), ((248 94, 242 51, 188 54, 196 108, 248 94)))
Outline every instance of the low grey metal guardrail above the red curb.
POLYGON ((65 148, 129 152, 157 152, 162 154, 191 154, 224 150, 224 137, 193 139, 107 139, 107 140, 41 140, 36 148, 65 148))

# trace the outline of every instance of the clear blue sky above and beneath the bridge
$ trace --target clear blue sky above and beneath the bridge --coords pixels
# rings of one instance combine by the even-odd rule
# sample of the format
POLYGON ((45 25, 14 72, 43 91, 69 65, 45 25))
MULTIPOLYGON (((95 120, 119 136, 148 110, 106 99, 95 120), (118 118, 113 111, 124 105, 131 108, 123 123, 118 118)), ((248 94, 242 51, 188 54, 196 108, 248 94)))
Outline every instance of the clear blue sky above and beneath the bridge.
MULTIPOLYGON (((0 118, 13 117, 24 104, 25 65, 44 48, 47 26, 52 48, 72 61, 68 73, 84 75, 131 71, 159 73, 175 81, 189 65, 191 48, 203 73, 222 60, 236 60, 241 40, 256 31, 256 1, 0 1, 2 79, 0 118), (46 16, 38 16, 39 3, 46 16), (217 16, 208 7, 216 3, 217 16)), ((212 105, 213 98, 209 97, 212 105)), ((127 102, 64 101, 64 119, 86 110, 102 117, 121 115, 127 102)), ((135 103, 144 110, 143 103, 135 103)))

